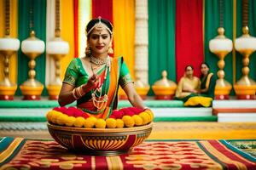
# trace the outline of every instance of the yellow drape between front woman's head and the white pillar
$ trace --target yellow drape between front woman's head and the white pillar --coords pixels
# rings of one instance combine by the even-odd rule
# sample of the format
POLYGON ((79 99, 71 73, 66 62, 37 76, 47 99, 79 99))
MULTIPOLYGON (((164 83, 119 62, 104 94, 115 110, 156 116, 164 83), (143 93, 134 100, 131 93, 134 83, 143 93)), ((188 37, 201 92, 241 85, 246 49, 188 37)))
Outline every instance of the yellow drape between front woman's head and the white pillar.
POLYGON ((113 0, 114 56, 124 56, 131 77, 134 77, 135 1, 113 0))

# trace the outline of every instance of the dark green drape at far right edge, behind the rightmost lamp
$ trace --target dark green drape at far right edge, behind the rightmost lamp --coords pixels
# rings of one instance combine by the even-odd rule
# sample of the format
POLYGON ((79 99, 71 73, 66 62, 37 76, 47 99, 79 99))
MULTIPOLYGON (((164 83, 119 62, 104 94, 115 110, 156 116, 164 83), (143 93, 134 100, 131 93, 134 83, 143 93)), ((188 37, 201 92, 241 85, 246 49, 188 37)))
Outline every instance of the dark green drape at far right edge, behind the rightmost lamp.
MULTIPOLYGON (((256 2, 255 0, 248 0, 249 2, 249 34, 253 37, 256 37, 256 2)), ((242 35, 242 1, 236 1, 236 37, 241 37, 242 35)), ((249 63, 249 77, 251 77, 254 81, 256 81, 256 53, 250 55, 250 63, 249 63)), ((242 68, 242 55, 236 52, 236 82, 241 78, 241 68, 242 68)))

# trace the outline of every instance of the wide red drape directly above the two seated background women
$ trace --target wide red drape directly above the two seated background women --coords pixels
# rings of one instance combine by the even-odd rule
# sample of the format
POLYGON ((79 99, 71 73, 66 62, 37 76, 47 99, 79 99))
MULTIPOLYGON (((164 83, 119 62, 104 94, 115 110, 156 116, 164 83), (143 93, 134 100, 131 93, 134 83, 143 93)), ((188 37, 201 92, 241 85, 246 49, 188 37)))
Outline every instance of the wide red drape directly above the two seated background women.
POLYGON ((200 75, 203 53, 203 0, 176 1, 176 68, 177 81, 183 77, 186 65, 194 66, 200 75))

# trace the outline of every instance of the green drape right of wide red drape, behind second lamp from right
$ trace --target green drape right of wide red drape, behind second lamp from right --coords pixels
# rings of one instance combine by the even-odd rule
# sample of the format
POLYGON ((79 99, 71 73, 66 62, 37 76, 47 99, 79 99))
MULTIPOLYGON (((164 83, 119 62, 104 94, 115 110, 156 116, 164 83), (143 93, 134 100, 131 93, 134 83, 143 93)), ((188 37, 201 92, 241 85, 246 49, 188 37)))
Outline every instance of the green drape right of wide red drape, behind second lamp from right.
MULTIPOLYGON (((233 0, 223 0, 224 2, 224 29, 225 36, 232 40, 233 35, 233 0)), ((210 65, 210 70, 217 76, 218 72, 218 56, 212 54, 209 49, 209 42, 218 36, 219 22, 219 0, 205 1, 205 61, 210 65)), ((233 41, 233 40, 232 40, 233 41)), ((232 52, 227 54, 225 59, 225 79, 232 84, 233 82, 233 66, 232 52)), ((199 69, 199 68, 198 68, 199 69)))

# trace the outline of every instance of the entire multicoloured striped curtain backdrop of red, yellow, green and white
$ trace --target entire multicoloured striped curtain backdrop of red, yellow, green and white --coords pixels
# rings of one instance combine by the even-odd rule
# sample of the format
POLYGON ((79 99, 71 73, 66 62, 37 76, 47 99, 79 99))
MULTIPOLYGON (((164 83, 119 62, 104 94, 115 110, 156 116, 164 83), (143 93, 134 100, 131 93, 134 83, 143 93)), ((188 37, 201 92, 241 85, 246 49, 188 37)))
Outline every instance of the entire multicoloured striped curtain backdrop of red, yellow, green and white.
MULTIPOLYGON (((139 1, 139 0, 138 0, 139 1)), ((223 0, 225 36, 241 36, 242 0, 223 0)), ((249 1, 250 34, 256 37, 256 2, 249 1)), ((114 57, 123 55, 131 76, 135 75, 135 11, 136 0, 61 0, 61 38, 69 43, 70 51, 61 59, 61 79, 74 57, 84 56, 86 47, 85 26, 91 18, 102 16, 113 22, 114 57)), ((29 37, 30 8, 33 7, 33 30, 46 42, 53 37, 55 8, 52 1, 10 0, 10 37, 20 42, 29 37), (18 12, 19 11, 19 12, 18 12), (48 14, 47 14, 48 13, 48 14), (47 28, 47 29, 46 29, 47 28)), ((194 65, 199 76, 200 64, 206 61, 212 72, 218 71, 218 57, 209 51, 209 41, 218 35, 219 0, 148 0, 148 82, 153 85, 166 70, 168 78, 178 82, 185 65, 194 65)), ((0 37, 4 35, 4 0, 0 0, 0 37)), ((2 57, 1 57, 2 58, 2 57)), ((241 54, 230 53, 225 58, 225 79, 235 83, 241 77, 241 54)), ((18 86, 28 78, 28 61, 18 51, 11 57, 9 77, 18 86)), ((55 67, 46 53, 36 59, 36 78, 48 85, 55 77, 55 67)), ((250 57, 249 76, 256 81, 256 53, 250 57)), ((3 61, 0 62, 0 81, 3 80, 3 61)), ((134 77, 135 78, 135 77, 134 77)), ((152 94, 152 93, 151 93, 152 94)), ((21 95, 18 88, 16 95, 21 95)), ((46 88, 44 94, 48 95, 46 88)))

